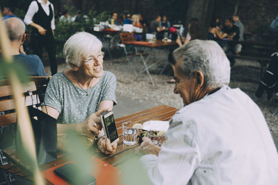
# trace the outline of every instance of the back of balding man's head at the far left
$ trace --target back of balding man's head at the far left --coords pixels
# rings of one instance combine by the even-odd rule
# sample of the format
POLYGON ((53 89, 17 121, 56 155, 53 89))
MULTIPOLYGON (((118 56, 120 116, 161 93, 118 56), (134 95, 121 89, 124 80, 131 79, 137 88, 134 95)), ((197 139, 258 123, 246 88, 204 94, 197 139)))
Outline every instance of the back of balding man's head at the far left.
POLYGON ((25 33, 25 24, 17 17, 5 19, 4 24, 8 31, 8 36, 11 41, 20 40, 25 33))

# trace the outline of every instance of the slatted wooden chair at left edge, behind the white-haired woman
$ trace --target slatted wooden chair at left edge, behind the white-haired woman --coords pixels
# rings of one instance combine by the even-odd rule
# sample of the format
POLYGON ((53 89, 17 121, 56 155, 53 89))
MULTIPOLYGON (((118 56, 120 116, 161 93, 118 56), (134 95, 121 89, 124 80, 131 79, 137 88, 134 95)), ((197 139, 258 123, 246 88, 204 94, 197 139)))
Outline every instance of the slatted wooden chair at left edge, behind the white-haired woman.
MULTIPOLYGON (((30 80, 32 81, 22 85, 22 93, 24 94, 22 101, 24 101, 26 106, 40 107, 50 77, 32 76, 30 80)), ((10 142, 5 143, 5 145, 0 148, 0 168, 5 171, 4 175, 6 176, 7 183, 11 181, 11 176, 10 173, 6 171, 6 166, 13 166, 13 164, 10 164, 10 161, 3 156, 1 149, 15 146, 16 122, 17 116, 11 87, 8 81, 4 80, 0 82, 0 138, 1 141, 3 141, 5 130, 7 130, 8 134, 5 135, 7 137, 5 140, 10 142)))

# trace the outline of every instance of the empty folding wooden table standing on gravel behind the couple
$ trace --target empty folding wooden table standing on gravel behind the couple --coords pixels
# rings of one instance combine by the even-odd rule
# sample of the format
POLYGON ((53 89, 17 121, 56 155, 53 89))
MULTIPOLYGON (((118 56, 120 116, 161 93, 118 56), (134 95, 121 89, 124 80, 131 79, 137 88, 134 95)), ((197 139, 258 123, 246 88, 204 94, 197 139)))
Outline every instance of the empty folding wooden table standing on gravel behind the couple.
MULTIPOLYGON (((155 56, 155 52, 154 52, 154 49, 163 49, 165 52, 163 52, 163 55, 165 55, 165 58, 167 59, 168 56, 167 56, 167 49, 170 49, 171 46, 174 46, 176 45, 177 43, 175 41, 171 41, 171 42, 163 42, 162 40, 156 40, 155 42, 140 42, 140 41, 129 41, 129 42, 123 42, 122 44, 126 44, 126 45, 133 45, 135 46, 136 48, 138 47, 147 47, 149 49, 151 49, 151 51, 149 52, 149 55, 147 55, 147 58, 145 59, 142 55, 140 55, 140 58, 142 60, 142 63, 143 63, 143 67, 140 69, 138 75, 144 71, 147 72, 147 75, 149 76, 149 79, 151 80, 152 82, 152 85, 154 86, 154 80, 152 80, 152 76, 150 75, 149 73, 149 68, 151 67, 154 67, 158 62, 152 62, 151 65, 148 66, 148 61, 149 61, 149 58, 151 58, 152 55, 155 56), (145 68, 144 68, 145 67, 145 68)), ((137 51, 139 51, 139 49, 137 49, 137 51)), ((140 54, 140 53, 139 53, 140 54)), ((163 69, 161 70, 161 73, 163 73, 165 67, 167 66, 168 64, 168 61, 165 62, 164 64, 164 67, 163 69)))

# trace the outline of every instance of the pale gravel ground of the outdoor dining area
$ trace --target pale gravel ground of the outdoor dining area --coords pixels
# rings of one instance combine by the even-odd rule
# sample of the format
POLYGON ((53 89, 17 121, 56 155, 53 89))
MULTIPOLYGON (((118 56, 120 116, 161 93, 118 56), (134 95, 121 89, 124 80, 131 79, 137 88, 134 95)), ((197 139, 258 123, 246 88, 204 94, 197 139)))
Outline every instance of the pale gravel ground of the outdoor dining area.
MULTIPOLYGON (((137 63, 140 64, 140 62, 137 63)), ((46 68, 49 70, 49 67, 46 68)), ((60 64, 58 71, 64 71, 68 68, 67 64, 60 64)), ((140 103, 152 102, 154 106, 164 104, 177 107, 178 109, 183 106, 179 95, 173 93, 174 85, 167 84, 166 82, 172 78, 170 75, 159 76, 158 73, 153 71, 152 78, 156 85, 152 87, 147 73, 142 73, 136 79, 125 58, 117 58, 113 61, 105 60, 104 69, 113 72, 117 77, 117 94, 132 100, 138 100, 140 103)), ((254 94, 259 86, 259 82, 260 68, 257 62, 247 60, 236 61, 236 65, 231 69, 230 87, 240 88, 259 105, 268 123, 270 132, 278 137, 278 103, 274 98, 268 101, 265 94, 263 94, 262 98, 256 98, 254 94)))

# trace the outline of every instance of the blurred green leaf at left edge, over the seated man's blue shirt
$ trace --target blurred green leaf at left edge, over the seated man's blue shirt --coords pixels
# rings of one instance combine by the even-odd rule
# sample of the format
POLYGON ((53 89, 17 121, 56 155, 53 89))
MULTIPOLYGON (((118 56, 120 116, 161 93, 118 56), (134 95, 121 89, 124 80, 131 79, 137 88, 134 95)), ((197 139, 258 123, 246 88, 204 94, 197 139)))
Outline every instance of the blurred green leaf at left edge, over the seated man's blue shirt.
POLYGON ((28 82, 26 69, 21 62, 5 62, 3 58, 0 58, 0 80, 6 79, 11 71, 17 74, 20 82, 28 82))

